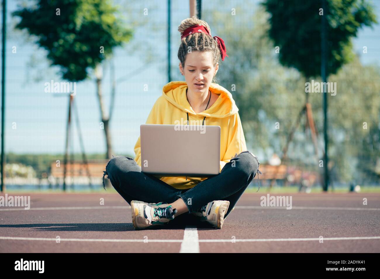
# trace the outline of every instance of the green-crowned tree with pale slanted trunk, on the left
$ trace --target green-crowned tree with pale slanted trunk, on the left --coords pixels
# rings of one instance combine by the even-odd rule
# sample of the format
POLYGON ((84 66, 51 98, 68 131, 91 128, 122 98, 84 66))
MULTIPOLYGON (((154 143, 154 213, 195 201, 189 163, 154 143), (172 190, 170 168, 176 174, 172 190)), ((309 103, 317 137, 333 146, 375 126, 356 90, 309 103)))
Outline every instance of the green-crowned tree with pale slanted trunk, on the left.
MULTIPOLYGON (((39 0, 36 5, 15 11, 13 16, 21 18, 16 28, 25 28, 36 36, 36 43, 47 50, 51 65, 60 66, 63 79, 81 81, 95 69, 106 158, 111 158, 112 110, 107 116, 102 100, 101 63, 132 36, 132 31, 117 17, 117 7, 109 0, 39 0)), ((112 98, 110 107, 113 101, 112 98)))

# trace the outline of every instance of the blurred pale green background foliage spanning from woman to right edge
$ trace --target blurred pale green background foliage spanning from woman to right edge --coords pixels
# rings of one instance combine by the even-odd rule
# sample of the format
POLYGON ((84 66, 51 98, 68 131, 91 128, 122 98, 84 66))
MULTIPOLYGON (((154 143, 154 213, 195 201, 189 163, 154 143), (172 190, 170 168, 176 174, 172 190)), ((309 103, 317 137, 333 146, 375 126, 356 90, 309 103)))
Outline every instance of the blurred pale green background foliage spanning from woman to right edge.
MULTIPOLYGON (((263 150, 264 156, 259 160, 265 162, 268 159, 266 154, 279 154, 287 141, 294 119, 305 103, 306 78, 297 69, 279 63, 268 37, 269 14, 263 7, 259 6, 255 13, 245 13, 244 9, 246 7, 236 7, 238 19, 225 17, 217 11, 205 14, 211 15, 211 19, 206 19, 211 26, 218 26, 217 22, 221 20, 224 22, 220 28, 214 28, 213 33, 222 34, 230 60, 222 62, 218 76, 239 107, 247 147, 253 153, 263 150), (275 129, 277 122, 279 129, 275 129)), ((330 75, 329 80, 337 82, 338 88, 337 95, 331 96, 329 110, 332 170, 336 174, 334 180, 348 183, 364 176, 366 166, 373 172, 376 164, 372 162, 379 158, 380 140, 375 134, 379 129, 380 70, 361 65, 358 57, 353 55, 352 61, 343 65, 336 75, 330 75), (363 129, 364 121, 370 128, 363 129), (362 140, 369 133, 373 134, 372 142, 366 143, 364 147, 368 152, 364 150, 363 155, 368 161, 361 164, 358 158, 362 157, 362 140)), ((315 78, 315 81, 321 80, 315 78)), ((321 131, 321 93, 310 93, 309 102, 313 107, 316 130, 321 131)), ((305 118, 300 120, 301 128, 294 133, 285 162, 316 170, 319 167, 313 158, 313 145, 306 138, 310 137, 305 133, 306 121, 305 118)), ((321 145, 318 140, 318 146, 321 145)))

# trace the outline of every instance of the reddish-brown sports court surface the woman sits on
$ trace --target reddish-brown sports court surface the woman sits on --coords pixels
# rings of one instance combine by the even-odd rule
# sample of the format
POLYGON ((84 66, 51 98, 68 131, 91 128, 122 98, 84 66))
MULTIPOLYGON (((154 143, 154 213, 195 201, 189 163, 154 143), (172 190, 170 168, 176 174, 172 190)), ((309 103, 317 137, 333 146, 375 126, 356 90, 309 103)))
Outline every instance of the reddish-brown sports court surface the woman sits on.
POLYGON ((287 210, 245 193, 220 230, 182 214, 138 231, 117 193, 10 195, 30 195, 30 209, 0 206, 2 253, 380 252, 380 194, 270 194, 291 196, 287 210))

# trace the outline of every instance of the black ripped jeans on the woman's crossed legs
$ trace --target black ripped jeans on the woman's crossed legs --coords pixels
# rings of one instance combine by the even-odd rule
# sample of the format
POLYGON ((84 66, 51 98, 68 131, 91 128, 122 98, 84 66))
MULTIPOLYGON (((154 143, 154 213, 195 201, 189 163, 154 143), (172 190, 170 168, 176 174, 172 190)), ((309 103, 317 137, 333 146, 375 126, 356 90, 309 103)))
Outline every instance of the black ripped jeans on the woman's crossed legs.
MULTIPOLYGON (((230 206, 225 218, 230 214, 237 201, 253 180, 260 162, 249 151, 236 154, 225 164, 222 171, 209 177, 190 189, 176 189, 153 175, 141 172, 141 167, 128 156, 113 157, 106 165, 106 171, 112 186, 131 204, 131 200, 147 203, 173 203, 182 199, 188 207, 188 214, 199 210, 213 200, 229 200, 230 206)), ((260 182, 259 182, 260 188, 260 182)))

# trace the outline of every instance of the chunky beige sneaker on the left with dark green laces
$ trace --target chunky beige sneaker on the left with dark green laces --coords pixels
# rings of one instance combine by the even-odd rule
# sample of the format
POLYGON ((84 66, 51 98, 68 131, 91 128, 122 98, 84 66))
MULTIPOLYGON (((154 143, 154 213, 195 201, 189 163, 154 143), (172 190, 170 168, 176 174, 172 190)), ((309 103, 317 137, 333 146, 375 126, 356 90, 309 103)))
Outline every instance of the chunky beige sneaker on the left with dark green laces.
POLYGON ((166 225, 174 219, 177 210, 167 203, 146 203, 131 201, 132 224, 136 230, 146 229, 155 225, 166 225))

